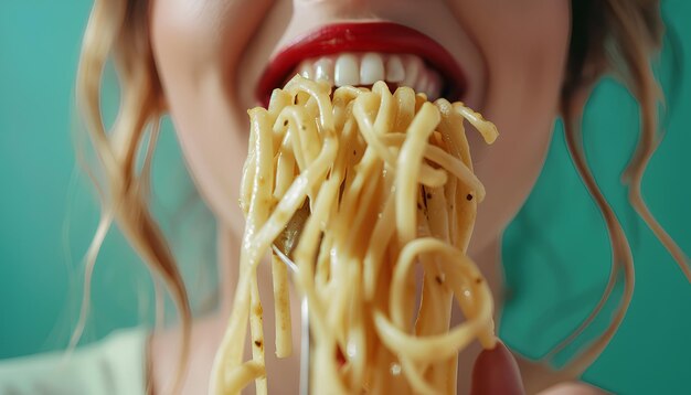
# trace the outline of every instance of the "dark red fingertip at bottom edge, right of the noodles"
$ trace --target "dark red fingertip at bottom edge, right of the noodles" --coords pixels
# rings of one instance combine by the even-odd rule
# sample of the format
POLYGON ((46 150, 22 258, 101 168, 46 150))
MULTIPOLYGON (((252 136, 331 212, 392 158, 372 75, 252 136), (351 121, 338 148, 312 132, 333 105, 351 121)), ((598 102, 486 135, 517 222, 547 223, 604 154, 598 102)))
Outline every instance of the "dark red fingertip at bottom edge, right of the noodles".
POLYGON ((511 352, 501 342, 482 350, 472 369, 471 395, 522 395, 523 382, 511 352))

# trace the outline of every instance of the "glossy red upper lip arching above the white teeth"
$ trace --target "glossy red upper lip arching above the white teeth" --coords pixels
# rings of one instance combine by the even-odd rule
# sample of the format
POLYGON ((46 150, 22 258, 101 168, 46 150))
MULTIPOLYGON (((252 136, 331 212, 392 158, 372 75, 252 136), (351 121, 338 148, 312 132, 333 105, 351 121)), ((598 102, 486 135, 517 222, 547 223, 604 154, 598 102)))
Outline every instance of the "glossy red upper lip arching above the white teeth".
POLYGON ((391 22, 338 23, 325 25, 280 50, 267 65, 256 88, 257 98, 268 105, 272 90, 283 86, 306 58, 342 52, 408 53, 419 56, 444 79, 442 96, 456 100, 466 92, 466 75, 444 46, 427 35, 391 22))

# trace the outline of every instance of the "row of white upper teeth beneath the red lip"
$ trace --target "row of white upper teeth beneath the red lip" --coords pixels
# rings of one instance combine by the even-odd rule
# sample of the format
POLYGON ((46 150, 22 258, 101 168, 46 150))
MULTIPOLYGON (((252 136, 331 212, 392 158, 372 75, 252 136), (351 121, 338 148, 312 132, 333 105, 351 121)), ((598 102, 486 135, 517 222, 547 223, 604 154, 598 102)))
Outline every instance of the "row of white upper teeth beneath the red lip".
POLYGON ((298 70, 304 77, 323 79, 334 86, 372 85, 378 81, 410 86, 434 100, 442 92, 442 78, 415 55, 341 53, 309 58, 298 70))

